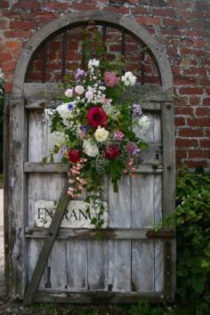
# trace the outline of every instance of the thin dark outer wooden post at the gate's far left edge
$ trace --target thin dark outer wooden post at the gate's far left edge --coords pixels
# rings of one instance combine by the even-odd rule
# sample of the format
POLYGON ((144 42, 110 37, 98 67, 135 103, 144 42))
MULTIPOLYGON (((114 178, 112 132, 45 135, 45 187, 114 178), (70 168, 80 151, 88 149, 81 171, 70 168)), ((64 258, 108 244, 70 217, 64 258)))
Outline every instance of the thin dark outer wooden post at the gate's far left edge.
POLYGON ((9 165, 7 163, 10 156, 10 97, 5 95, 4 100, 4 280, 5 280, 5 293, 9 294, 9 269, 10 269, 10 256, 9 256, 9 165))

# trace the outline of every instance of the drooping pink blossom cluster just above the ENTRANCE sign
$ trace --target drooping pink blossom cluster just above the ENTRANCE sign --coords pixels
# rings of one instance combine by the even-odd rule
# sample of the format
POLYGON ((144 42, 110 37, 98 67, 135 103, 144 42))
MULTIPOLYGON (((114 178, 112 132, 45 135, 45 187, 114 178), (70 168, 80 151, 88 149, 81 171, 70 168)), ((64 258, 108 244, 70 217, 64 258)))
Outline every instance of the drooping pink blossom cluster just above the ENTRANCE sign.
POLYGON ((81 196, 81 192, 85 190, 86 181, 80 176, 81 170, 84 168, 86 158, 79 158, 78 162, 69 168, 69 189, 68 195, 71 198, 81 196))

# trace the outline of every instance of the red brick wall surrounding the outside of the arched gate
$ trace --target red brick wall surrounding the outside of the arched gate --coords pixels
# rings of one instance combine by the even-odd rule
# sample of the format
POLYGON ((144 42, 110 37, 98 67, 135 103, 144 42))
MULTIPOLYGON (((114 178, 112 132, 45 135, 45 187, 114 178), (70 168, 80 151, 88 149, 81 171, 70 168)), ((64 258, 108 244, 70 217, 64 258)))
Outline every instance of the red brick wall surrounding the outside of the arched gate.
POLYGON ((21 48, 64 12, 132 14, 166 48, 174 75, 177 162, 210 168, 210 2, 198 0, 0 0, 0 67, 6 90, 21 48))

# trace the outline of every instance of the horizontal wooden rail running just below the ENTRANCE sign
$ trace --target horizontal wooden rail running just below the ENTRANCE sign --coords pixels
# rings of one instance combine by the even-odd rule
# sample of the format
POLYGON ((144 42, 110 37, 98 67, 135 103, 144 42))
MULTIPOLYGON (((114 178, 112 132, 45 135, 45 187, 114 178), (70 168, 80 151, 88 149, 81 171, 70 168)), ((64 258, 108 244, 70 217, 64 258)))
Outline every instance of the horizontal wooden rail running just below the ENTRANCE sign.
MULTIPOLYGON (((104 229, 104 238, 174 238, 174 231, 169 229, 151 230, 151 229, 104 229)), ((27 226, 25 229, 26 238, 46 238, 47 229, 45 228, 32 228, 27 226)), ((89 229, 66 229, 60 228, 57 238, 95 238, 96 230, 89 229)))

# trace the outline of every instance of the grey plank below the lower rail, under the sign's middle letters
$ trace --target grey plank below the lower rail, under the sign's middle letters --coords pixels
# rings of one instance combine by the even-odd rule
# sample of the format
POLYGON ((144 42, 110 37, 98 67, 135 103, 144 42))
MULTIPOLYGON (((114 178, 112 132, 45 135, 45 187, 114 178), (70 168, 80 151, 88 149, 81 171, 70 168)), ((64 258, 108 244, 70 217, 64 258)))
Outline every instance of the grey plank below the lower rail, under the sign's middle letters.
POLYGON ((85 240, 67 242, 68 288, 87 289, 87 250, 85 240))

